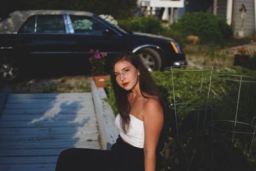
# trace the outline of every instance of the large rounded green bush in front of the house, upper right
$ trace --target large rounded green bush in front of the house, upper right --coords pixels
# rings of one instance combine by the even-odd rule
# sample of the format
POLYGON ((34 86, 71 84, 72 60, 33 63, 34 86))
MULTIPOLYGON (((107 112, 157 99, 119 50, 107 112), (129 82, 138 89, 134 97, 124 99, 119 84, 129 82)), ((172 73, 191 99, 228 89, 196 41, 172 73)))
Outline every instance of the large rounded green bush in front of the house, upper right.
POLYGON ((184 36, 199 36, 204 43, 223 45, 225 40, 232 38, 232 27, 225 20, 211 13, 186 13, 171 28, 184 36))

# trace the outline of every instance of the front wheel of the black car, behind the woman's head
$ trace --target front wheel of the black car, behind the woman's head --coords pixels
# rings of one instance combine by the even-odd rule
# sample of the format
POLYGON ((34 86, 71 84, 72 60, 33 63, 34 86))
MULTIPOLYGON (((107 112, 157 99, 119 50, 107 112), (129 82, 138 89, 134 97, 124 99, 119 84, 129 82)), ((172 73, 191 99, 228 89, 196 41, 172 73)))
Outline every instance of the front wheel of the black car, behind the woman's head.
POLYGON ((161 57, 159 53, 152 48, 143 48, 136 54, 140 57, 148 71, 159 71, 161 68, 161 57))

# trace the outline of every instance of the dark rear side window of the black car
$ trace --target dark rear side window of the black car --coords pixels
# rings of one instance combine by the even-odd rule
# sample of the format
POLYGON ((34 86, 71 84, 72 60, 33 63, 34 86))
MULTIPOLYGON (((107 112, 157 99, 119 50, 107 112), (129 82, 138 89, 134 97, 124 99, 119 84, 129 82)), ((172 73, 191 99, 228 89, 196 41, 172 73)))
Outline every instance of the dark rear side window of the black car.
POLYGON ((63 15, 37 15, 36 33, 66 33, 63 15))

